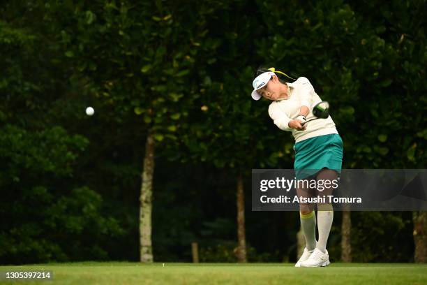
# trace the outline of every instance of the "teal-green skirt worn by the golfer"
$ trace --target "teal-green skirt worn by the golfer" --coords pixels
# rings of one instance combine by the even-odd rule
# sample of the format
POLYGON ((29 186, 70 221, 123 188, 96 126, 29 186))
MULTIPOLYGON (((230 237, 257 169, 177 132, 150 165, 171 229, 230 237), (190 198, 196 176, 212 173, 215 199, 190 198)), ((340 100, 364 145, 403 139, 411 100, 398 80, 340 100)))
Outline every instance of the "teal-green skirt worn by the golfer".
POLYGON ((317 136, 294 145, 294 169, 297 180, 316 175, 327 168, 341 173, 343 164, 343 140, 340 135, 317 136))

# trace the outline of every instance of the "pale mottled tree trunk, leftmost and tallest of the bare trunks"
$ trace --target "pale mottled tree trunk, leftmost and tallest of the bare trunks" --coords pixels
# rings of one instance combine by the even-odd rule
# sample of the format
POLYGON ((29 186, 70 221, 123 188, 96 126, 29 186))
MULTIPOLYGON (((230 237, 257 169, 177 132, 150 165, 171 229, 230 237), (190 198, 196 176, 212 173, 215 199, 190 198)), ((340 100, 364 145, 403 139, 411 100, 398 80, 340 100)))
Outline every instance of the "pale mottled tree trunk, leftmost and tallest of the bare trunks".
POLYGON ((145 144, 140 196, 140 261, 153 262, 151 245, 151 200, 153 196, 154 139, 149 131, 145 144))

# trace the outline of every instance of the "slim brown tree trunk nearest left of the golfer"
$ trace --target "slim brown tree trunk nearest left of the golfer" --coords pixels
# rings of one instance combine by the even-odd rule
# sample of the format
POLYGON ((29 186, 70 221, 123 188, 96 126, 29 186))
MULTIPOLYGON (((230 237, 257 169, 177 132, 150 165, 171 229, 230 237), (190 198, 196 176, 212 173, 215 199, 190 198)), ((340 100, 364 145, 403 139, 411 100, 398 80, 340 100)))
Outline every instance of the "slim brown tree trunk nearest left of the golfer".
POLYGON ((237 261, 246 263, 245 196, 243 178, 237 177, 237 261))

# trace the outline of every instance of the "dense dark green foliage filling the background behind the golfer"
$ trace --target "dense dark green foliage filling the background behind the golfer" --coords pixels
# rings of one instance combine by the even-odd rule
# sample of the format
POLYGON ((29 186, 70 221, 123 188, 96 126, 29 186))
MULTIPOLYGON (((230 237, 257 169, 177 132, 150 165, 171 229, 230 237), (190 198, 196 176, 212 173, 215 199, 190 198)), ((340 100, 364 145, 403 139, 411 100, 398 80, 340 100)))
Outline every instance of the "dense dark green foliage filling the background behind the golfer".
MULTIPOLYGON (((426 10, 422 0, 6 1, 0 262, 137 260, 147 131, 158 147, 155 260, 190 261, 197 241, 203 261, 235 261, 236 173, 250 197, 251 168, 293 159, 290 133, 250 99, 258 66, 305 76, 331 102, 345 168, 426 168, 426 10)), ((250 212, 249 198, 246 209, 249 261, 294 260, 297 213, 250 212)), ((410 213, 353 219, 354 261, 412 261, 410 213)), ((335 260, 339 223, 337 213, 335 260)))

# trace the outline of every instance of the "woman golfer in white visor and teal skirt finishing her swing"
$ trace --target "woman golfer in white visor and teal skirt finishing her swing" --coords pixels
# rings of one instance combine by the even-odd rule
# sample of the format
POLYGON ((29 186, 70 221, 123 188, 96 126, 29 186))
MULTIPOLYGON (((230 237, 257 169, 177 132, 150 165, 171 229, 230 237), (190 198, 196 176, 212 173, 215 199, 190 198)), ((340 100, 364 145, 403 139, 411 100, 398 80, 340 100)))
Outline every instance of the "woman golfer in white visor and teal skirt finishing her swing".
MULTIPOLYGON (((338 135, 331 117, 316 119, 313 106, 320 101, 313 86, 307 78, 301 77, 292 83, 279 80, 274 68, 261 69, 253 80, 252 98, 259 100, 264 97, 272 101, 269 115, 274 124, 283 131, 292 131, 295 139, 294 169, 297 180, 315 180, 317 189, 304 189, 304 183, 297 187, 299 197, 331 195, 333 184, 338 179, 343 161, 343 141, 338 135), (305 124, 306 123, 306 124, 305 124), (326 187, 328 184, 328 187, 326 187)), ((284 74, 284 73, 282 73, 284 74)), ((287 76, 287 75, 286 75, 287 76)), ((324 201, 322 201, 324 202, 324 201)), ((326 201, 327 202, 327 201, 326 201)), ((319 240, 316 241, 316 216, 314 203, 300 203, 299 215, 301 228, 306 239, 304 253, 296 267, 318 267, 329 265, 329 254, 326 249, 329 232, 331 231, 334 212, 330 203, 317 203, 317 229, 319 240)))

